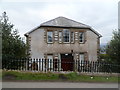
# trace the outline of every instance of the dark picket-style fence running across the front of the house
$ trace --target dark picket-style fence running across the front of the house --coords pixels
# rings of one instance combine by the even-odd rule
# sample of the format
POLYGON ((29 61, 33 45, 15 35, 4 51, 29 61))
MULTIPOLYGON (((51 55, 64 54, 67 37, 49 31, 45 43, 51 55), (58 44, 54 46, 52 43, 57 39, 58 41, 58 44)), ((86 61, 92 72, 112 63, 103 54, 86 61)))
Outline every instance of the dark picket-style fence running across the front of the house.
MULTIPOLYGON (((71 66, 70 66, 71 67, 71 66)), ((11 59, 2 62, 2 69, 21 71, 78 71, 78 72, 103 72, 119 73, 120 65, 98 61, 61 62, 53 59, 11 59), (64 66, 63 66, 64 65, 64 66), (64 70, 69 65, 73 65, 72 70, 64 70)))

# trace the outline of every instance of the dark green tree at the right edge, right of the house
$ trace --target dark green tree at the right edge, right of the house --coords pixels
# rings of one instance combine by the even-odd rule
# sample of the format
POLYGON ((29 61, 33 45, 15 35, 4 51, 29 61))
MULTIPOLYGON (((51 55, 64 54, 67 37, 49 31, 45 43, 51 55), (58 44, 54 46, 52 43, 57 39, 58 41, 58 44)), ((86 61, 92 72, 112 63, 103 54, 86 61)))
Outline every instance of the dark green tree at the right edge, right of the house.
POLYGON ((107 45, 106 53, 109 56, 109 62, 120 64, 120 30, 113 32, 113 37, 107 45))

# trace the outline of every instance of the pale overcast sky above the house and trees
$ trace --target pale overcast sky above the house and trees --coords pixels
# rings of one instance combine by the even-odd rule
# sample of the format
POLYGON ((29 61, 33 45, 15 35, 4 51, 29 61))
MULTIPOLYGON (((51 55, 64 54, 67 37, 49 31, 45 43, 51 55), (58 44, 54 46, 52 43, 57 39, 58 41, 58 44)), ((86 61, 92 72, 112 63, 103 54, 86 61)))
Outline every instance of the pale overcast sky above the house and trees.
POLYGON ((10 22, 22 37, 41 23, 64 16, 91 26, 103 36, 101 43, 107 43, 113 30, 118 28, 118 1, 3 0, 0 2, 0 14, 7 12, 10 22))

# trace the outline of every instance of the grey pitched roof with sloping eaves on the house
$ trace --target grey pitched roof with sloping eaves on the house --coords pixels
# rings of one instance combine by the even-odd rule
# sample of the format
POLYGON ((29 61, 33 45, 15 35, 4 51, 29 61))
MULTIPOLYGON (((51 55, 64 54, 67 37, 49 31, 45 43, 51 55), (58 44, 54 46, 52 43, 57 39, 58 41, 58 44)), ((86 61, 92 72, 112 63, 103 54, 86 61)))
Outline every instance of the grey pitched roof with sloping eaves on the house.
POLYGON ((91 31, 93 31, 95 34, 97 34, 99 37, 101 37, 102 35, 100 35, 98 32, 96 32, 92 27, 85 25, 83 23, 65 18, 65 17, 57 17, 55 19, 49 20, 47 22, 42 23, 40 26, 36 27, 35 29, 29 31, 28 33, 25 34, 28 35, 31 32, 37 30, 40 27, 71 27, 71 28, 87 28, 90 29, 91 31))

